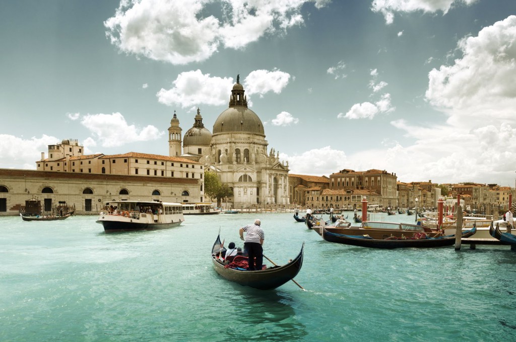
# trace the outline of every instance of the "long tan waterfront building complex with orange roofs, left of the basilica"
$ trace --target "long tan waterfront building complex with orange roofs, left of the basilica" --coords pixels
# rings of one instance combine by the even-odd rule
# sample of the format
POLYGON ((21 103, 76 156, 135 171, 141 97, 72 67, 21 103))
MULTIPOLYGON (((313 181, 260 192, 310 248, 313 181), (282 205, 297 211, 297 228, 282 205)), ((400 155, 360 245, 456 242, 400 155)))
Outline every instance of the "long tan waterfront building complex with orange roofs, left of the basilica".
POLYGON ((181 157, 128 152, 83 155, 77 140, 49 145, 36 170, 0 169, 0 215, 18 215, 35 196, 49 211, 59 201, 96 214, 104 201, 202 202, 204 166, 181 157))

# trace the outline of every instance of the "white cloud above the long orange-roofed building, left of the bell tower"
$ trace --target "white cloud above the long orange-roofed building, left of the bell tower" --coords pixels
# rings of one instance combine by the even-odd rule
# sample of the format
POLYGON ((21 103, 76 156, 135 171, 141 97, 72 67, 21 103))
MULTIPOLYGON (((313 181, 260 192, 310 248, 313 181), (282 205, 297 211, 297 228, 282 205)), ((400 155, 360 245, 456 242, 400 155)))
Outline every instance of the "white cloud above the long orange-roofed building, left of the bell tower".
POLYGON ((135 141, 157 140, 165 134, 151 125, 141 129, 135 125, 128 125, 120 113, 87 114, 80 123, 90 130, 96 140, 101 141, 103 147, 122 146, 135 141))

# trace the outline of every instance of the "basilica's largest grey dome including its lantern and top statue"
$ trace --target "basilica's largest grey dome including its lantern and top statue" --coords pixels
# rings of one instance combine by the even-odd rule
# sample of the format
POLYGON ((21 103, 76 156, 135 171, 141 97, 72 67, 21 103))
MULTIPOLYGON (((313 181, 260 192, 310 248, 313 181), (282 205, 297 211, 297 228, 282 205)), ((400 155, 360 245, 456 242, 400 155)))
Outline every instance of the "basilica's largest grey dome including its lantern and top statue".
POLYGON ((220 113, 213 124, 213 135, 221 133, 253 133, 265 136, 263 123, 255 112, 247 108, 244 87, 240 76, 231 91, 229 108, 220 113))

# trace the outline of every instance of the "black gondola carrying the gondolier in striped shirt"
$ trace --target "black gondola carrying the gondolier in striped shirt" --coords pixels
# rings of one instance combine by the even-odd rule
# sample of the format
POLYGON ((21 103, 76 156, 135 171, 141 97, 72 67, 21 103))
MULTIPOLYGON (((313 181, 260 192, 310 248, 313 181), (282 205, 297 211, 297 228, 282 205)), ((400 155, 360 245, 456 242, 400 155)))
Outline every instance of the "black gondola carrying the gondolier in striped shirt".
POLYGON ((220 254, 225 252, 225 247, 220 242, 220 235, 213 244, 212 262, 215 271, 222 278, 235 282, 242 286, 254 287, 261 290, 275 289, 284 283, 291 281, 297 276, 303 265, 304 242, 301 251, 295 259, 282 266, 272 266, 260 271, 247 271, 234 268, 225 268, 224 263, 219 259, 220 254))

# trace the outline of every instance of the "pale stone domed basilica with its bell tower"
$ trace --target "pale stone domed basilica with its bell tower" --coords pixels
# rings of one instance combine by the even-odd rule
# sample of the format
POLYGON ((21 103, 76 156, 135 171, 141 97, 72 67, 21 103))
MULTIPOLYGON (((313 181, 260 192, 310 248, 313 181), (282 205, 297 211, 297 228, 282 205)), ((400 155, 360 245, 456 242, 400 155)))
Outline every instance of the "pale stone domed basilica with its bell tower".
POLYGON ((183 153, 182 129, 174 112, 168 129, 169 155, 198 161, 216 172, 233 189, 233 208, 281 207, 288 204, 288 162, 280 162, 273 148, 267 153, 263 123, 247 108, 244 93, 238 76, 229 108, 216 119, 213 133, 204 127, 197 109, 195 123, 184 134, 183 153))

